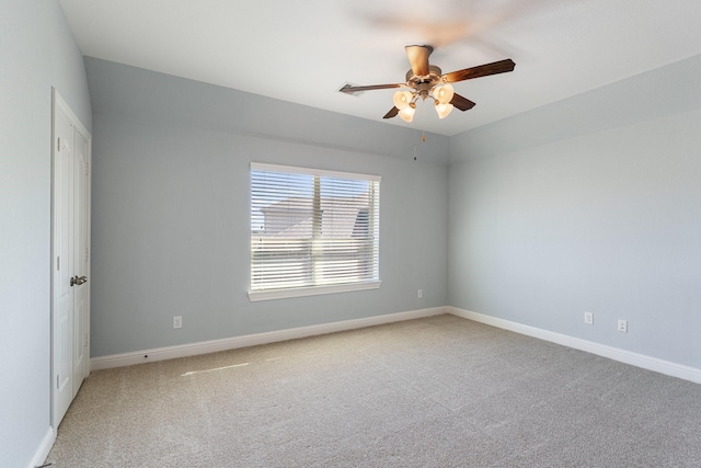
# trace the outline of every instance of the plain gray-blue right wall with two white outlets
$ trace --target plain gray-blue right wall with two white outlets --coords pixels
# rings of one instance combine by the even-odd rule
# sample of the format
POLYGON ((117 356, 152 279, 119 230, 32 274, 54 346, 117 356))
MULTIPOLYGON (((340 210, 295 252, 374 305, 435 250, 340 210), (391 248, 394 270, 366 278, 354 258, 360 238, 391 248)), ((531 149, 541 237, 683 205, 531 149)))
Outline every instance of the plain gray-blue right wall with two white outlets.
POLYGON ((701 367, 701 56, 450 144, 449 305, 701 367))

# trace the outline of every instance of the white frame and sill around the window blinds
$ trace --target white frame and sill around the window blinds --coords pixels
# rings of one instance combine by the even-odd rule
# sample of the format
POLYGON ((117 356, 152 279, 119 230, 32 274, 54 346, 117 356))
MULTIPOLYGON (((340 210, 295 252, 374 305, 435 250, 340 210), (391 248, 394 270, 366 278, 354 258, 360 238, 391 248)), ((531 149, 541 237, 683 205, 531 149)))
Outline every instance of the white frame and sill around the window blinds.
MULTIPOLYGON (((269 163, 262 163, 262 162, 251 162, 251 172, 253 171, 272 171, 272 172, 298 173, 298 174, 318 175, 318 176, 327 176, 327 178, 356 179, 356 180, 378 182, 378 183, 381 181, 381 176, 379 175, 329 171, 329 170, 311 169, 311 168, 299 168, 299 167, 291 167, 291 165, 269 164, 269 163)), ((250 185, 249 192, 251 195, 252 195, 252 190, 253 189, 250 185)), ((378 210, 377 222, 379 224, 379 193, 376 196, 378 198, 375 205, 375 209, 378 210)), ((249 206, 252 209, 253 204, 249 203, 249 206)), ((252 214, 251 214, 251 218, 252 218, 252 214)), ((317 296, 322 294, 337 294, 337 293, 348 293, 348 292, 379 288, 382 284, 382 282, 379 279, 379 227, 377 229, 377 232, 378 232, 378 236, 375 239, 375 249, 377 250, 376 253, 378 255, 377 263, 375 264, 377 279, 358 281, 353 283, 343 283, 343 284, 333 284, 333 285, 286 287, 286 288, 279 288, 279 289, 258 289, 258 290, 253 290, 251 288, 251 283, 249 283, 249 293, 248 293, 249 299, 251 301, 272 300, 272 299, 317 296)), ((253 246, 252 231, 251 231, 250 241, 251 241, 250 253, 252 254, 252 246, 253 246)), ((253 274, 252 263, 253 262, 251 259, 251 264, 249 269, 250 279, 251 279, 251 275, 253 274)))

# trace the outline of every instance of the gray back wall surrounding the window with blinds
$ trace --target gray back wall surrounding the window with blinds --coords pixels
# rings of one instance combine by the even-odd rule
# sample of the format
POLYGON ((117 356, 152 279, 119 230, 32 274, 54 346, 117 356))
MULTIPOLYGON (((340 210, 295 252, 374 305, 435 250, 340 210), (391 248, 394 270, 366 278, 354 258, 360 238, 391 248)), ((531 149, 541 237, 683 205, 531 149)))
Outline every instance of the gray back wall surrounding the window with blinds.
POLYGON ((447 137, 428 135, 415 162, 411 129, 85 64, 93 356, 446 304, 447 137), (250 303, 251 161, 381 175, 381 288, 250 303))

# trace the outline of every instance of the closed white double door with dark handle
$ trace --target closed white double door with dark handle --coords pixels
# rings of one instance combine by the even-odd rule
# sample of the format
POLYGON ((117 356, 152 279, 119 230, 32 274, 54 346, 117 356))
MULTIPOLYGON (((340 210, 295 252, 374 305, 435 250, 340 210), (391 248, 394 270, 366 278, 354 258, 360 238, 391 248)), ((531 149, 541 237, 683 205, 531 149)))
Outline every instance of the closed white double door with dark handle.
POLYGON ((58 427, 89 370, 90 136, 54 94, 53 425, 58 427))

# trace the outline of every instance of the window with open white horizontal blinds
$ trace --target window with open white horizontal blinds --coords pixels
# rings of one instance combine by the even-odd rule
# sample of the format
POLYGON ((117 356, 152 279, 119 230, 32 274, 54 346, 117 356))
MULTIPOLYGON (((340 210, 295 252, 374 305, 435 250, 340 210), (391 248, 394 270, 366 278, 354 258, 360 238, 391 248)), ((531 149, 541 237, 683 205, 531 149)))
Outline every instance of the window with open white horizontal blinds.
POLYGON ((380 178, 251 163, 251 300, 380 286, 380 178))

